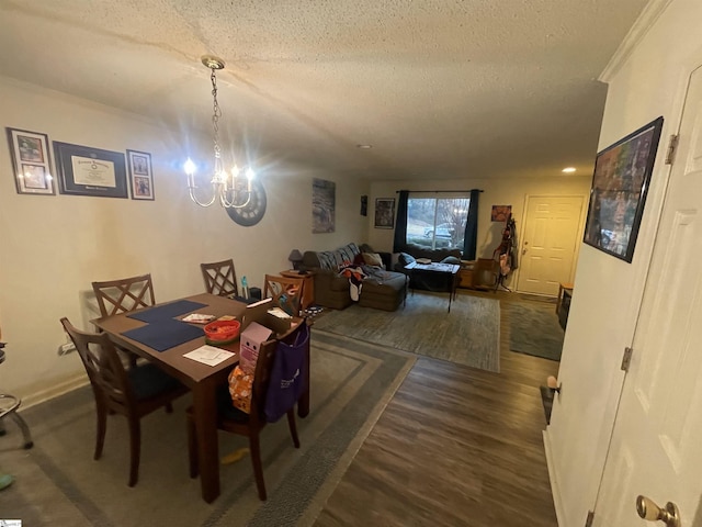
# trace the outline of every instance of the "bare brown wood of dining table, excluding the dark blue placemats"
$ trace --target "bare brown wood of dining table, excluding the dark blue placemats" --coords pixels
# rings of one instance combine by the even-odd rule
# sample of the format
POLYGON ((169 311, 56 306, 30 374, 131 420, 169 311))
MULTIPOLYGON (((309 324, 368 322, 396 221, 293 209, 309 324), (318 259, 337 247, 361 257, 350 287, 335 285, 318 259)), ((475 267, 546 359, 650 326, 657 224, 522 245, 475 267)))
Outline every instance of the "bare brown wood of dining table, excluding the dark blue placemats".
MULTIPOLYGON (((124 335, 125 332, 134 330, 148 324, 147 322, 134 318, 135 314, 138 315, 139 313, 146 313, 149 310, 159 307, 166 307, 168 310, 169 304, 179 302, 179 305, 194 302, 203 304, 203 306, 196 306, 196 309, 192 311, 180 313, 174 316, 177 319, 190 313, 203 313, 214 315, 215 317, 230 315, 241 321, 247 307, 247 304, 227 299, 226 296, 202 293, 158 304, 154 307, 97 318, 92 321, 92 323, 101 330, 107 333, 110 338, 118 346, 149 360, 192 391, 202 497, 205 502, 212 503, 219 495, 216 386, 227 382, 229 372, 234 366, 238 363, 239 340, 228 345, 220 345, 219 347, 233 351, 234 355, 216 366, 208 366, 184 357, 185 354, 206 344, 204 334, 203 336, 174 345, 161 351, 124 335)), ((199 326, 202 327, 202 325, 199 326)), ((301 399, 298 404, 297 412, 302 417, 306 416, 309 412, 308 393, 307 390, 306 395, 301 399)))

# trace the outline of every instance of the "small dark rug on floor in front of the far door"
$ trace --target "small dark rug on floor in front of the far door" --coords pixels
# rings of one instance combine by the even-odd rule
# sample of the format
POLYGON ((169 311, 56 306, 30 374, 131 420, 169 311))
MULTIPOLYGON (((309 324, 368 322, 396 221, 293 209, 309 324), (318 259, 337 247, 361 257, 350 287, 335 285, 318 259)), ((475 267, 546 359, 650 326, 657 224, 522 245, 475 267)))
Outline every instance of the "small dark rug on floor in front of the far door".
POLYGON ((548 302, 506 302, 509 311, 509 349, 520 354, 561 360, 564 332, 548 302))

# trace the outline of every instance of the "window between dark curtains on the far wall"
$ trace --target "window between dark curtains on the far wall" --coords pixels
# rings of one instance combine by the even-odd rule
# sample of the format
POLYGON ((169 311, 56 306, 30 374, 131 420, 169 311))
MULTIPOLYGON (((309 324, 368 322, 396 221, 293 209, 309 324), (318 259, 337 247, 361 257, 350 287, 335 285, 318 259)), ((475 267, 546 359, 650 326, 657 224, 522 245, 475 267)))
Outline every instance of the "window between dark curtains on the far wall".
POLYGON ((431 249, 463 249, 469 202, 467 197, 409 198, 406 242, 431 249))

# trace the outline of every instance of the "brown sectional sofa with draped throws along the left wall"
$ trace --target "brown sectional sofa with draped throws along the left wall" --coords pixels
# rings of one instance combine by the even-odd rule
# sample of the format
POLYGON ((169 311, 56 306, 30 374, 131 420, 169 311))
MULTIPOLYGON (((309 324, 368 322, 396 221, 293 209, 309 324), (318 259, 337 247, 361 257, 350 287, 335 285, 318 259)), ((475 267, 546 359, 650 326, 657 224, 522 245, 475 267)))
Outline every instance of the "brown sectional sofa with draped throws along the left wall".
POLYGON ((315 281, 315 303, 332 310, 343 310, 353 303, 350 279, 341 276, 346 267, 360 267, 365 277, 361 281, 358 303, 363 307, 395 311, 407 295, 407 277, 390 269, 392 255, 376 253, 367 245, 354 243, 335 250, 303 254, 301 270, 312 272, 315 281))

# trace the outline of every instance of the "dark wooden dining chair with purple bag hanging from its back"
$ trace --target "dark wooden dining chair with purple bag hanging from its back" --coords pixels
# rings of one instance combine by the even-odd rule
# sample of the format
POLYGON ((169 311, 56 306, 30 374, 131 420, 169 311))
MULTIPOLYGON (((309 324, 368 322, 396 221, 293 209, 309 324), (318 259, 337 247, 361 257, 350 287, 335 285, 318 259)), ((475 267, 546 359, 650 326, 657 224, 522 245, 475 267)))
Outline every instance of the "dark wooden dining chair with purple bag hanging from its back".
MULTIPOLYGON (((269 390, 269 381, 271 379, 271 370, 273 360, 278 349, 278 344, 294 343, 303 326, 308 332, 309 326, 306 319, 297 324, 286 334, 278 339, 267 340, 259 348, 259 357, 256 362, 256 371, 253 373, 253 382, 251 385, 251 406, 250 413, 245 413, 235 407, 231 403, 228 385, 218 386, 217 390, 217 428, 230 434, 245 436, 249 438, 249 450, 251 452, 251 463, 253 464, 253 476, 259 495, 259 500, 267 500, 265 481, 263 479, 263 466, 261 463, 261 446, 260 434, 268 424, 265 418, 265 402, 269 390)), ((307 333, 307 337, 308 337, 307 333)), ((305 343, 305 366, 304 371, 309 374, 309 338, 305 343)), ((306 382, 309 382, 307 378, 306 382)), ((197 438, 195 435, 195 423, 193 410, 188 408, 188 452, 190 460, 190 476, 196 478, 197 469, 197 438)), ((297 424, 295 422, 295 407, 290 407, 285 415, 287 417, 287 427, 295 448, 299 448, 299 438, 297 436, 297 424)))

